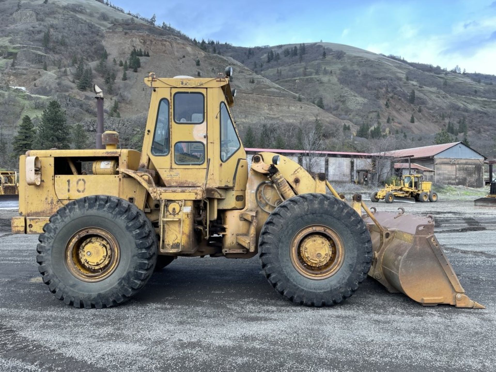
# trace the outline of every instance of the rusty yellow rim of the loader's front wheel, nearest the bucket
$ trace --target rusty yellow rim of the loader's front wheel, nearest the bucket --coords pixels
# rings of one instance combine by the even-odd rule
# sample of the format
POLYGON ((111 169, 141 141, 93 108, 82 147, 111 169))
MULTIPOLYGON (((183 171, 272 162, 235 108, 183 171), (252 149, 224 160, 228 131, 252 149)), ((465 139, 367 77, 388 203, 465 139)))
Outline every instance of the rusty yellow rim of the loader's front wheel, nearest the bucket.
POLYGON ((334 275, 344 260, 344 246, 339 235, 323 225, 310 225, 300 230, 290 245, 295 269, 310 279, 334 275))

